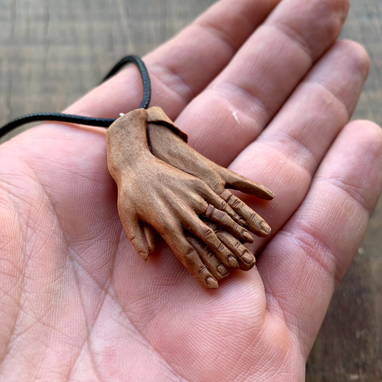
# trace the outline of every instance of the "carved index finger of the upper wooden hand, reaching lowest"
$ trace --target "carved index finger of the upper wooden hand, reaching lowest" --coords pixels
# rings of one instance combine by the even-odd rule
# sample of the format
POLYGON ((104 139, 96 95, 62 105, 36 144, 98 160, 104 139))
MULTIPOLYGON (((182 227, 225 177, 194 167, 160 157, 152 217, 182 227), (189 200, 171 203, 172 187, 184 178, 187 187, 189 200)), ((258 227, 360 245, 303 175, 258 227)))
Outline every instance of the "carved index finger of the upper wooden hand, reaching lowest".
POLYGON ((216 278, 209 272, 206 265, 201 261, 195 248, 187 241, 183 232, 166 232, 163 235, 168 246, 175 253, 176 257, 193 275, 197 282, 206 289, 217 289, 216 278))

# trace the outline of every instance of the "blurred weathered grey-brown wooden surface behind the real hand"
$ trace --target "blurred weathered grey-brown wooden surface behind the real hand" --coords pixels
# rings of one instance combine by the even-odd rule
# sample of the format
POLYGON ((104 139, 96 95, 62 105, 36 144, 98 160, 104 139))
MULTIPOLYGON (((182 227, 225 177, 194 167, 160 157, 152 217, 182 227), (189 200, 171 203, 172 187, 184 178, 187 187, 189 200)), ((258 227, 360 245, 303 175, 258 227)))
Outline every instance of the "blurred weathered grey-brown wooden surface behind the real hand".
MULTIPOLYGON (((265 0, 264 0, 265 1, 265 0)), ((172 37, 210 0, 2 0, 0 123, 60 111, 123 55, 172 37)), ((354 118, 382 125, 382 1, 353 0, 342 37, 372 68, 354 118)), ((306 367, 308 381, 382 381, 382 201, 335 291, 306 367)))

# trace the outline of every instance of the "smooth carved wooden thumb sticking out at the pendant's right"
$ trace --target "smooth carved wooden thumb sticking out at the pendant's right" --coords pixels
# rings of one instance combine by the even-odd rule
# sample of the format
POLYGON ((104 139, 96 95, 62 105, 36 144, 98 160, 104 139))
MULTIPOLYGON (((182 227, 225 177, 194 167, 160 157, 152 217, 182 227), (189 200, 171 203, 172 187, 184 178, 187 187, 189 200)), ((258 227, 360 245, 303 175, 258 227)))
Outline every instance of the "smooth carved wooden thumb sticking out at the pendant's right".
POLYGON ((227 182, 227 188, 238 190, 245 194, 255 195, 264 200, 271 200, 275 197, 274 193, 262 184, 236 174, 235 172, 228 170, 228 168, 220 167, 219 173, 227 182))

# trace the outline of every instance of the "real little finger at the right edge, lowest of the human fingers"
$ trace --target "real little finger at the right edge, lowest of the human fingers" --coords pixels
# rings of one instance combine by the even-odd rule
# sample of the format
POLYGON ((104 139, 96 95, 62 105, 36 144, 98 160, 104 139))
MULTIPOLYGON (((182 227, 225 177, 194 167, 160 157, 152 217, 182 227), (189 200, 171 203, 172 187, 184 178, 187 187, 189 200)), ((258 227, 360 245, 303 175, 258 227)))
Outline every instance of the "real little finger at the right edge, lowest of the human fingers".
POLYGON ((330 297, 361 244, 382 189, 382 131, 347 125, 303 204, 258 260, 273 311, 283 311, 308 356, 330 297))

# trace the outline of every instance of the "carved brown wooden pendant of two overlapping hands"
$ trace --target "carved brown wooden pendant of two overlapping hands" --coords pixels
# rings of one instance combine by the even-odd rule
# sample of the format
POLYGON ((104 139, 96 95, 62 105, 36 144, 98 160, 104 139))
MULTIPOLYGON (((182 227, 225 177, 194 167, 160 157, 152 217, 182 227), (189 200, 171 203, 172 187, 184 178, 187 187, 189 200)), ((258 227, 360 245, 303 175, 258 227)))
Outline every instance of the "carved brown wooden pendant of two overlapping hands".
POLYGON ((204 288, 217 288, 230 268, 249 270, 255 257, 249 231, 270 227, 227 188, 270 200, 274 194, 203 157, 187 144, 160 107, 137 109, 107 131, 110 174, 128 238, 147 260, 155 231, 204 288))

